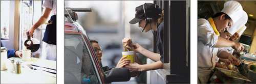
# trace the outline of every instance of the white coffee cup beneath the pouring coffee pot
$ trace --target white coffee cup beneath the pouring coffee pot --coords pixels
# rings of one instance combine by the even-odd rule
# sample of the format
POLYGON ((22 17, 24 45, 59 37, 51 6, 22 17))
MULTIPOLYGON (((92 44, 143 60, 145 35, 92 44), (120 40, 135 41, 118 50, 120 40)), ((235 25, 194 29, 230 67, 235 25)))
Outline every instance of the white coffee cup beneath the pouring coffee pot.
POLYGON ((22 50, 22 57, 18 54, 19 58, 22 58, 22 61, 30 61, 31 60, 31 50, 23 49, 22 50))

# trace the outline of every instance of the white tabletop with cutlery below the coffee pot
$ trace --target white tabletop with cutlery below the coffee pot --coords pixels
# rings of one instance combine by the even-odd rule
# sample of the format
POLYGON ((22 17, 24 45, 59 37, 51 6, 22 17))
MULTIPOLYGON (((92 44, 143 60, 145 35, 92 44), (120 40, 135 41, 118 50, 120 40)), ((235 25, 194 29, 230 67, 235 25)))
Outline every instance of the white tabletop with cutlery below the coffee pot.
MULTIPOLYGON (((9 58, 9 60, 12 59, 15 61, 21 61, 20 58, 9 58)), ((16 74, 10 70, 1 71, 1 83, 56 83, 56 74, 39 70, 44 68, 37 68, 33 66, 34 68, 37 68, 37 70, 32 70, 27 66, 27 64, 33 64, 40 67, 56 69, 56 61, 31 58, 31 61, 21 62, 22 73, 16 74)), ((7 67, 10 69, 10 66, 7 67)))

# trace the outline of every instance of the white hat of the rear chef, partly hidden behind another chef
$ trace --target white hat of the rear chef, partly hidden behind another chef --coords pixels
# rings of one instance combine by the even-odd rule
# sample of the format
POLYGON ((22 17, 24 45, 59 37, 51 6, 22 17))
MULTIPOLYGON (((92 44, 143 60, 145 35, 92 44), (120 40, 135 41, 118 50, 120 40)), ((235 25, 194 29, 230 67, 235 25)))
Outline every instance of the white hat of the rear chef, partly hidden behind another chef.
POLYGON ((244 10, 242 10, 240 15, 242 15, 242 16, 239 17, 239 21, 234 22, 233 25, 227 30, 229 34, 233 35, 234 33, 236 33, 242 27, 242 25, 246 24, 246 22, 248 20, 247 13, 244 10))

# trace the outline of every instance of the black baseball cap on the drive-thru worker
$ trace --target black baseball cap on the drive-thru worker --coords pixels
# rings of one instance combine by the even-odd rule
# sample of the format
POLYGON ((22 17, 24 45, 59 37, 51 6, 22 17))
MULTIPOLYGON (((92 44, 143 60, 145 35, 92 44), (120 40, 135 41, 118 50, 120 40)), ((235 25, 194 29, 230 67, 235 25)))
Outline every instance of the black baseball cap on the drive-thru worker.
POLYGON ((139 22, 140 20, 145 19, 146 17, 149 17, 149 18, 157 17, 158 14, 161 13, 161 9, 159 9, 159 7, 156 4, 145 3, 143 5, 136 7, 135 18, 133 18, 129 23, 135 24, 135 23, 139 22), (144 14, 143 5, 145 8, 146 15, 144 14))

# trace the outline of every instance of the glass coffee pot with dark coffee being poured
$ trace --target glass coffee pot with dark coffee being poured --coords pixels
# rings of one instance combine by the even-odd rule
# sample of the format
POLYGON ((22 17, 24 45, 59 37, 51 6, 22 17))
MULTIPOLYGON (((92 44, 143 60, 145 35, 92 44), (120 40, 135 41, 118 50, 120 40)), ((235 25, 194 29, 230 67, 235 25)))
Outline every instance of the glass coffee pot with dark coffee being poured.
POLYGON ((37 51, 40 47, 40 41, 31 37, 29 35, 29 32, 27 32, 27 37, 28 37, 28 39, 24 42, 25 47, 27 49, 30 49, 31 52, 37 51))

